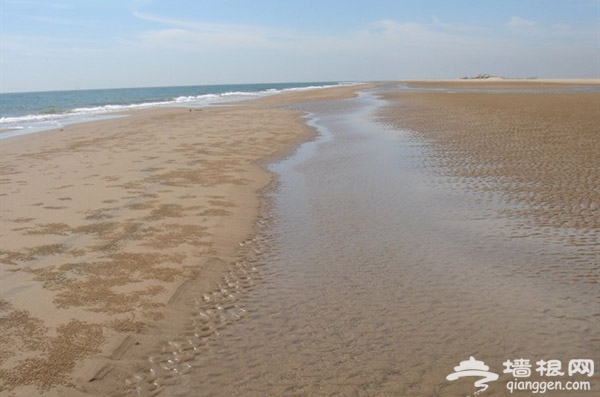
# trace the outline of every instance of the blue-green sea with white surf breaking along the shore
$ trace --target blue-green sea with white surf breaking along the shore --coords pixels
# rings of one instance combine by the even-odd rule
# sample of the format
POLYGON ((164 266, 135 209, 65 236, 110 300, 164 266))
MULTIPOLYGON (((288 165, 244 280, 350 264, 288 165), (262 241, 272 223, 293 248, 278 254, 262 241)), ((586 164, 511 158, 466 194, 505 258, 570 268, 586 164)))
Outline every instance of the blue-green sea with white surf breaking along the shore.
POLYGON ((0 139, 165 106, 203 107, 351 82, 303 82, 0 93, 0 139))

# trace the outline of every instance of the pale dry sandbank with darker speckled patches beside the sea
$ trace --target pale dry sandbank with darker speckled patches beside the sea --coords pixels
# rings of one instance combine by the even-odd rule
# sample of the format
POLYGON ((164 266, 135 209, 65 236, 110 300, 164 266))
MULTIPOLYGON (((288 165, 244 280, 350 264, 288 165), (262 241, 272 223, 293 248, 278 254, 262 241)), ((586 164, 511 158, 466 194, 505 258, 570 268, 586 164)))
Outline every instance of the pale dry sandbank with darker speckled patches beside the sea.
POLYGON ((261 162, 314 133, 286 106, 357 89, 2 141, 0 393, 119 392, 243 255, 271 180, 261 162))

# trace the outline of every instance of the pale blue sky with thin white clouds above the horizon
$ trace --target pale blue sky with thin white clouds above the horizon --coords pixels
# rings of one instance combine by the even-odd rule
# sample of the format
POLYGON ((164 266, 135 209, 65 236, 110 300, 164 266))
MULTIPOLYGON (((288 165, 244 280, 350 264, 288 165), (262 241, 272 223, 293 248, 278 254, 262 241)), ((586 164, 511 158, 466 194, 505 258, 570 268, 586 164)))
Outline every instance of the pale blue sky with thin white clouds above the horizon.
POLYGON ((600 0, 0 0, 0 92, 600 78, 600 0))

